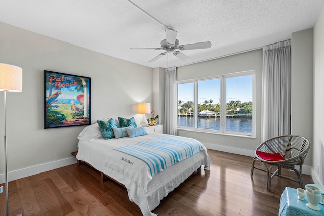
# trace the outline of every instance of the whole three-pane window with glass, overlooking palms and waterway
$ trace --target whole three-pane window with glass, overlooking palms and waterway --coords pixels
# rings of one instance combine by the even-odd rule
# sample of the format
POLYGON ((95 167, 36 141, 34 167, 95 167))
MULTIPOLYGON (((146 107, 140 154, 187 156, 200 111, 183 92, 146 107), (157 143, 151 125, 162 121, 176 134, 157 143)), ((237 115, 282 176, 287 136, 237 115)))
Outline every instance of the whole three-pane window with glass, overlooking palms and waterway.
POLYGON ((178 128, 255 135, 255 71, 178 82, 178 128))

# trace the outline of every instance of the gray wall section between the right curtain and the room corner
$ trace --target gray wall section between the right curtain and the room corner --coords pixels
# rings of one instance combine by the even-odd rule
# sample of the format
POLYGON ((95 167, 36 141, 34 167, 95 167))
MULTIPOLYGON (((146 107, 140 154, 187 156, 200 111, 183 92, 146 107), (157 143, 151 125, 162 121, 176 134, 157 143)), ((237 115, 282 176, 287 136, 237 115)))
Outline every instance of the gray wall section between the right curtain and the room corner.
MULTIPOLYGON (((292 35, 291 134, 313 138, 313 28, 292 35)), ((312 147, 305 164, 312 164, 312 147)))

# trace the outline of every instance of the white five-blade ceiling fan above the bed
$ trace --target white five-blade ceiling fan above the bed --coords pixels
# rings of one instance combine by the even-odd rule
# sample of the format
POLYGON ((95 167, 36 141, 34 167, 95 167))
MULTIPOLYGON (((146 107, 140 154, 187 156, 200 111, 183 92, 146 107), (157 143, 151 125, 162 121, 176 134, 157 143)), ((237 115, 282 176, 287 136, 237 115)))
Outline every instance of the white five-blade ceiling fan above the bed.
POLYGON ((165 50, 166 52, 159 54, 149 62, 155 62, 162 56, 166 55, 167 53, 173 53, 176 57, 178 57, 181 60, 187 60, 189 59, 188 56, 183 54, 182 52, 178 50, 196 50, 196 49, 206 49, 210 48, 212 46, 212 43, 210 41, 206 42, 197 42, 194 44, 186 44, 186 45, 179 45, 179 40, 177 40, 177 31, 175 31, 173 28, 167 28, 166 29, 166 39, 161 41, 161 47, 160 48, 144 48, 144 47, 133 47, 131 49, 150 49, 150 50, 165 50))

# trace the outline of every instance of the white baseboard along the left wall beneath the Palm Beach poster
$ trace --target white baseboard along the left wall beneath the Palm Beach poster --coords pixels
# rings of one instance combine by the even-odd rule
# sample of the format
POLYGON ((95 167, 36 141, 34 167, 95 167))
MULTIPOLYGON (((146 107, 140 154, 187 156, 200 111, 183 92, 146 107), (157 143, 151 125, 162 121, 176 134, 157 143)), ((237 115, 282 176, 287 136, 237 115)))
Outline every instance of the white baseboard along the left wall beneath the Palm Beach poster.
MULTIPOLYGON (((39 164, 36 166, 27 167, 24 169, 14 170, 8 172, 8 182, 14 181, 17 179, 25 178, 41 172, 46 172, 52 169, 57 169, 63 166, 68 166, 76 163, 77 160, 75 157, 69 157, 62 160, 57 160, 49 163, 39 164)), ((5 174, 0 174, 0 184, 5 182, 5 174)))

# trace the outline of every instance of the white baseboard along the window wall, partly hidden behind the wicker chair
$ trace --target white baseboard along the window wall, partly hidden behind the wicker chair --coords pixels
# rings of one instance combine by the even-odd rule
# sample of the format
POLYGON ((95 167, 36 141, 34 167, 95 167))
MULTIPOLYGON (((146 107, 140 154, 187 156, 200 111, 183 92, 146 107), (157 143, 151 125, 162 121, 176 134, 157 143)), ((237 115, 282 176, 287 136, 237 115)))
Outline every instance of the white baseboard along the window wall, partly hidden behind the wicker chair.
MULTIPOLYGON (((239 155, 244 155, 244 156, 249 156, 249 157, 255 156, 254 150, 239 149, 239 148, 234 148, 234 147, 230 147, 230 146, 223 146, 223 145, 211 144, 211 143, 203 143, 203 144, 206 148, 212 149, 212 150, 223 151, 223 152, 228 152, 228 153, 232 153, 232 154, 239 154, 239 155)), ((251 164, 252 164, 252 160, 251 160, 251 164)), ((299 166, 296 166, 295 168, 297 170, 299 170, 299 166)), ((302 173, 306 174, 306 175, 311 175, 311 166, 303 165, 302 173)))

